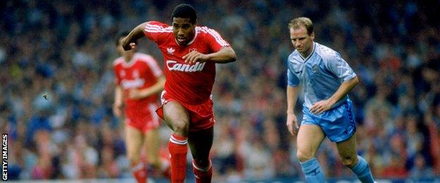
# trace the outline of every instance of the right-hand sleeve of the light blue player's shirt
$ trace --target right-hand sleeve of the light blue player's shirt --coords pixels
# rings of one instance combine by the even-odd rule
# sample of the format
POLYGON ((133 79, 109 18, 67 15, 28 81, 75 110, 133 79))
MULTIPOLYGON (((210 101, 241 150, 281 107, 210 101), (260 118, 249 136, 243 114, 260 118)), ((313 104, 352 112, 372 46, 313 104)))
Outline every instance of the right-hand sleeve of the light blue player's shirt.
POLYGON ((334 74, 336 77, 340 78, 343 81, 353 79, 356 74, 350 65, 341 57, 339 53, 331 56, 327 60, 327 68, 334 74))

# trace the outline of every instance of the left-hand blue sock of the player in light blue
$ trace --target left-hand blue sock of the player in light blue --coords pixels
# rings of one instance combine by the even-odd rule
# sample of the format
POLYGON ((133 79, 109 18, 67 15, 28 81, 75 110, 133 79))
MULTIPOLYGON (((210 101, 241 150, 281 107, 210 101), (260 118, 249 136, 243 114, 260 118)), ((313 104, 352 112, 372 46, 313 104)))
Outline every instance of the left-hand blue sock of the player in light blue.
POLYGON ((316 158, 302 162, 301 168, 305 174, 305 182, 325 182, 324 174, 316 158))

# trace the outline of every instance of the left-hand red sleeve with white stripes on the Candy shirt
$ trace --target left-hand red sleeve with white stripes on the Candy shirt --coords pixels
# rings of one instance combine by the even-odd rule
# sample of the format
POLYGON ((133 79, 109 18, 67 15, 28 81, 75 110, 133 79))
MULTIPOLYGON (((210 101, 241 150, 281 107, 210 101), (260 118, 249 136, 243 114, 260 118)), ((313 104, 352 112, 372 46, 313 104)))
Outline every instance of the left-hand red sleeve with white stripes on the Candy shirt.
POLYGON ((144 27, 145 37, 148 37, 148 39, 152 40, 152 42, 155 42, 156 44, 159 44, 161 36, 169 34, 170 32, 173 32, 173 28, 171 26, 164 23, 159 23, 157 21, 149 21, 144 27))

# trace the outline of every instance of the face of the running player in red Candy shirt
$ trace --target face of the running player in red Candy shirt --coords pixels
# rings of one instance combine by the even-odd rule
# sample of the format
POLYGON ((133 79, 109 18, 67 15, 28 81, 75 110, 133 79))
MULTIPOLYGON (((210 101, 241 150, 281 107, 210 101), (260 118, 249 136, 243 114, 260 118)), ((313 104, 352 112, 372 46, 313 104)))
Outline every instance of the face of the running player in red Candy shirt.
POLYGON ((190 18, 173 18, 173 33, 180 45, 186 45, 194 38, 195 24, 190 18))

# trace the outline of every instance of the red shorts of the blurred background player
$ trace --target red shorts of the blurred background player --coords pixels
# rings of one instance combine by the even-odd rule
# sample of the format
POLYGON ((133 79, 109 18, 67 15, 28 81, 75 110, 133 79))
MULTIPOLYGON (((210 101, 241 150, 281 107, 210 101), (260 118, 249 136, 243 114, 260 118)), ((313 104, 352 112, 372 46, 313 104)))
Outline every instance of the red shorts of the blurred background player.
POLYGON ((126 108, 126 124, 144 133, 158 128, 159 118, 154 114, 158 107, 157 103, 149 103, 145 107, 126 108))

